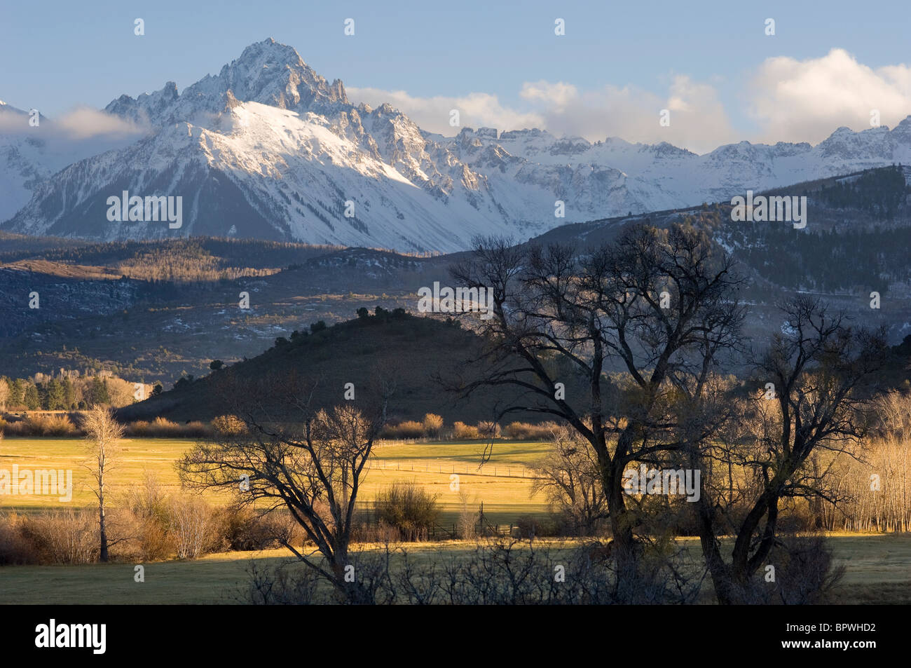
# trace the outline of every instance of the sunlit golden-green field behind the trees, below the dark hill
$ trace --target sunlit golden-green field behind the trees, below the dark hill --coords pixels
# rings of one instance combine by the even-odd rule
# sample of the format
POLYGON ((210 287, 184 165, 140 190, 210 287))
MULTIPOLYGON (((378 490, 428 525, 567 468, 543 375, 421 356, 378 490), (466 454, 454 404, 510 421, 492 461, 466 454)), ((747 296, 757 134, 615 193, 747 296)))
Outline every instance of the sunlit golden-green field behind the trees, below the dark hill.
MULTIPOLYGON (((127 438, 121 442, 117 462, 110 469, 107 485, 112 503, 118 502, 129 488, 140 484, 146 472, 155 474, 169 491, 179 490, 174 468, 193 442, 178 438, 127 438)), ((543 457, 544 443, 497 442, 490 459, 481 466, 486 443, 455 441, 447 443, 381 443, 374 449, 371 469, 364 480, 361 502, 369 503, 376 492, 396 481, 414 480, 438 495, 440 523, 448 526, 462 509, 465 492, 469 509, 481 503, 491 522, 510 524, 522 515, 547 512, 544 498, 530 498, 531 475, 526 466, 543 457), (451 489, 452 476, 458 475, 459 491, 451 489)), ((0 510, 29 511, 88 506, 95 502, 89 476, 81 463, 86 456, 85 442, 74 438, 5 438, 0 441, 0 469, 16 464, 25 468, 70 469, 73 472, 73 500, 61 503, 56 496, 0 496, 0 510)), ((217 501, 216 501, 217 502, 217 501)))

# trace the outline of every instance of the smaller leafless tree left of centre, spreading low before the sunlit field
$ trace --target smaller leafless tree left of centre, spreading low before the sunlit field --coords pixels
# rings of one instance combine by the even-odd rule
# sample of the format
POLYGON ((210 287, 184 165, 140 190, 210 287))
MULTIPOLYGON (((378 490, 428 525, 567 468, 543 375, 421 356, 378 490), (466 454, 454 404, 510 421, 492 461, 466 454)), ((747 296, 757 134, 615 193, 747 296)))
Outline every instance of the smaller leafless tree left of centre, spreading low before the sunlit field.
POLYGON ((374 416, 346 404, 312 413, 298 402, 300 421, 263 419, 247 406, 235 410, 246 429, 202 441, 179 462, 181 479, 193 488, 226 488, 242 505, 265 502, 286 508, 315 545, 313 552, 281 543, 346 601, 366 602, 370 591, 353 572, 349 545, 354 507, 374 439, 384 425, 385 403, 374 416), (322 560, 314 559, 319 554, 322 560))

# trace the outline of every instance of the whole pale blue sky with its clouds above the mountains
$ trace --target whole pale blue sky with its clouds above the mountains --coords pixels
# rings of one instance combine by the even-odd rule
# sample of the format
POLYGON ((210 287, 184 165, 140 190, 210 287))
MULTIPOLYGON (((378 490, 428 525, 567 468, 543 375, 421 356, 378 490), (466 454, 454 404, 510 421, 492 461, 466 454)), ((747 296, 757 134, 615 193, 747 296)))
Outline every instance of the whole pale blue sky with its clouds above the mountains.
POLYGON ((449 124, 457 108, 461 127, 697 152, 818 143, 840 126, 869 128, 874 111, 889 127, 911 115, 909 18, 907 0, 0 0, 0 100, 91 126, 81 108, 169 80, 182 90, 272 37, 341 78, 353 102, 390 102, 446 135, 460 129, 449 124))

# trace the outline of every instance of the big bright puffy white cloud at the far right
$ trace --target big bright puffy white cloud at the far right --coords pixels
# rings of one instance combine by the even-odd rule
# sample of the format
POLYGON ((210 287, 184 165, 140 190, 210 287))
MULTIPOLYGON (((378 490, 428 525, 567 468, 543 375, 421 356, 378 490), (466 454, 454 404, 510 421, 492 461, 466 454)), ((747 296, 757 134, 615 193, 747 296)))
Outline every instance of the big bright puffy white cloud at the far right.
POLYGON ((911 67, 867 67, 844 49, 804 61, 766 59, 747 92, 749 114, 765 141, 817 143, 835 128, 870 128, 878 109, 883 125, 895 125, 911 113, 911 67))

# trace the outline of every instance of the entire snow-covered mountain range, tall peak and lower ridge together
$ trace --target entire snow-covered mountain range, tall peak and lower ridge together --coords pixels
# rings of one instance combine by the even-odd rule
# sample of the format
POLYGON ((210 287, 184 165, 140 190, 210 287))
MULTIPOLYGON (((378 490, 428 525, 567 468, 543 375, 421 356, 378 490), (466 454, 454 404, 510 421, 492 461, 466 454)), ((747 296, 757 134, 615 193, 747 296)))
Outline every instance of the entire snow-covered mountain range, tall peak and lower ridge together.
MULTIPOLYGON (((271 39, 182 92, 169 82, 138 98, 121 96, 105 111, 148 135, 54 176, 16 172, 26 175, 21 189, 32 197, 4 229, 455 251, 478 233, 521 240, 566 222, 729 200, 747 189, 911 161, 911 117, 892 130, 838 128, 815 147, 744 141, 701 156, 667 143, 591 143, 538 129, 465 128, 447 138, 389 105, 352 105, 341 81, 329 83, 271 39), (181 197, 180 228, 108 221, 107 198, 125 190, 181 197), (565 202, 564 218, 555 217, 556 200, 565 202)), ((15 181, 0 179, 3 188, 15 181)))

